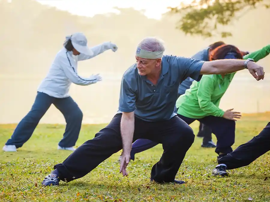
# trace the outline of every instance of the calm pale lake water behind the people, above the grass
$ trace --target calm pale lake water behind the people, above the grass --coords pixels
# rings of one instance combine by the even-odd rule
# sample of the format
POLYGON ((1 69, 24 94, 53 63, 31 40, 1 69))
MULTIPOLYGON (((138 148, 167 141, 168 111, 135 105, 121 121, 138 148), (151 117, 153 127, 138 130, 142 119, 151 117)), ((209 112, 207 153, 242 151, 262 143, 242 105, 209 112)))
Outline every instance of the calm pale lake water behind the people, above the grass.
MULTIPOLYGON (((71 85, 70 95, 81 108, 83 123, 107 123, 117 111, 122 74, 102 74, 103 81, 89 86, 71 85)), ((30 110, 42 76, 0 75, 0 123, 17 123, 30 110)), ((220 107, 242 113, 270 111, 270 80, 256 81, 248 73, 237 73, 220 107)), ((52 105, 40 123, 65 123, 52 105)))

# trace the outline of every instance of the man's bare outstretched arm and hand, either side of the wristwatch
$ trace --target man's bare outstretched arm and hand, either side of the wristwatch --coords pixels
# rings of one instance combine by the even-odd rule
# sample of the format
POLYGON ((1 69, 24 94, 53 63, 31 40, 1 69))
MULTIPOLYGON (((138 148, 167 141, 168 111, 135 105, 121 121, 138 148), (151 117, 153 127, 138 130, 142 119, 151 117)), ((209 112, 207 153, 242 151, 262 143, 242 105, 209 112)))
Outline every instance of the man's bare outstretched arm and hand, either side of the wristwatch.
MULTIPOLYGON (((200 74, 230 74, 244 69, 245 60, 224 59, 204 62, 200 74)), ((247 63, 247 69, 257 81, 264 78, 263 68, 254 62, 247 63)))

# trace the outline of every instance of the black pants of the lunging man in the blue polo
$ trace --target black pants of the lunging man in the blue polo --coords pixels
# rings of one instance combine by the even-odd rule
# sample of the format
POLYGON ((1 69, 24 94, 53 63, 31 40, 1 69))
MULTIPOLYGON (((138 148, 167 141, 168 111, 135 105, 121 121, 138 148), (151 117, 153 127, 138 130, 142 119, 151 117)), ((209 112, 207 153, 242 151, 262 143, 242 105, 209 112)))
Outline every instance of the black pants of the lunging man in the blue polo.
MULTIPOLYGON (((85 176, 122 149, 121 117, 122 114, 116 114, 105 128, 96 133, 94 139, 83 143, 63 163, 54 166, 61 180, 69 182, 85 176)), ((162 157, 151 171, 152 179, 157 182, 173 182, 194 137, 191 127, 177 116, 168 121, 157 122, 135 117, 133 142, 145 138, 163 146, 162 157)))

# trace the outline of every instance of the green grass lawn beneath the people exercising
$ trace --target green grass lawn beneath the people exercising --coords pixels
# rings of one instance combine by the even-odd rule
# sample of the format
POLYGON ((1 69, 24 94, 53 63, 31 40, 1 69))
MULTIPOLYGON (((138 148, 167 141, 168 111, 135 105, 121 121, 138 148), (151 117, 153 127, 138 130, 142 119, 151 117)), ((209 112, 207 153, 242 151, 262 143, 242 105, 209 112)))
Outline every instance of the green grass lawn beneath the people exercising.
MULTIPOLYGON (((270 118, 259 116, 237 122, 233 148, 257 135, 270 118)), ((0 125, 1 147, 15 126, 0 125)), ((102 127, 83 125, 76 146, 93 138, 102 127)), ((191 127, 196 134, 198 123, 191 127)), ((64 125, 38 125, 18 152, 0 151, 0 201, 270 201, 269 152, 249 166, 231 170, 229 177, 213 177, 217 155, 214 149, 201 148, 202 139, 197 137, 176 176, 185 180, 185 185, 149 182, 152 165, 162 154, 158 145, 136 155, 128 165, 128 177, 119 174, 119 151, 85 177, 60 182, 58 187, 42 187, 41 181, 53 166, 71 154, 56 150, 63 131, 64 125)), ((214 135, 213 139, 216 141, 214 135)))

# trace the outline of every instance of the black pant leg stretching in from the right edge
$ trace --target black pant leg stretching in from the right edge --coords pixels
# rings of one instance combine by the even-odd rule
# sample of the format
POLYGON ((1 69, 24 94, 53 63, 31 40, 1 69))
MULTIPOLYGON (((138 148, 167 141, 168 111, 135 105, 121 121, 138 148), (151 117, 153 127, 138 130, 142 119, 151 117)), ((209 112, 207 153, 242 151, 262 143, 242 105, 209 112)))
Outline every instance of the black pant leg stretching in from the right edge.
POLYGON ((240 168, 249 165, 268 151, 270 151, 270 122, 259 135, 240 145, 232 153, 220 158, 218 163, 226 164, 228 170, 240 168))

